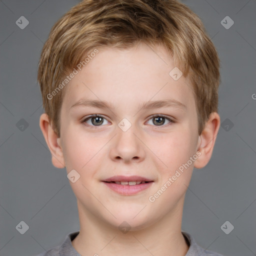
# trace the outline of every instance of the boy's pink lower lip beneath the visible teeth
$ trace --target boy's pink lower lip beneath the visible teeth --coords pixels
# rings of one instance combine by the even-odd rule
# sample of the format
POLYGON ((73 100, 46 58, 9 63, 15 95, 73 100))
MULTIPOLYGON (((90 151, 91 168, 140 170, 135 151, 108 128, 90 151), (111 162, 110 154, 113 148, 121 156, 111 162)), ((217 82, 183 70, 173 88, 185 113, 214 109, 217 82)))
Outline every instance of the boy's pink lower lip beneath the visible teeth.
POLYGON ((122 194, 122 195, 132 195, 136 194, 148 187, 151 186, 153 181, 147 182, 147 183, 140 183, 136 185, 121 185, 116 183, 110 183, 110 182, 104 182, 109 188, 111 188, 113 191, 122 194))

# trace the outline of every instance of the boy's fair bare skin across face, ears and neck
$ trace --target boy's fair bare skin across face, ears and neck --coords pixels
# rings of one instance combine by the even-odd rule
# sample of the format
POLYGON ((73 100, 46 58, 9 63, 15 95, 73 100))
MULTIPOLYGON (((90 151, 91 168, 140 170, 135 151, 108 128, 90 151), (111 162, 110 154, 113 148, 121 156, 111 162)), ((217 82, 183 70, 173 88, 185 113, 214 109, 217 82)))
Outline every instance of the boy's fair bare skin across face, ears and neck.
POLYGON ((211 157, 219 115, 211 113, 198 135, 189 78, 181 76, 175 81, 169 75, 173 61, 161 45, 98 50, 65 87, 59 138, 48 116, 40 117, 53 165, 65 166, 67 173, 75 169, 80 175, 76 182, 69 181, 80 221, 80 233, 72 245, 81 255, 185 255, 188 245, 181 234, 184 196, 193 167, 204 167, 211 157), (72 107, 81 98, 105 100, 113 108, 72 107), (149 100, 170 98, 186 107, 139 107, 149 100), (101 125, 95 125, 93 118, 83 122, 92 114, 105 118, 101 125), (153 114, 174 122, 163 118, 157 125, 150 117, 153 114), (131 124, 126 131, 118 127, 123 118, 131 124), (149 201, 198 151, 200 156, 155 201, 149 201), (101 181, 113 175, 139 175, 154 182, 137 194, 120 195, 101 181), (118 229, 123 221, 130 226, 126 233, 118 229))

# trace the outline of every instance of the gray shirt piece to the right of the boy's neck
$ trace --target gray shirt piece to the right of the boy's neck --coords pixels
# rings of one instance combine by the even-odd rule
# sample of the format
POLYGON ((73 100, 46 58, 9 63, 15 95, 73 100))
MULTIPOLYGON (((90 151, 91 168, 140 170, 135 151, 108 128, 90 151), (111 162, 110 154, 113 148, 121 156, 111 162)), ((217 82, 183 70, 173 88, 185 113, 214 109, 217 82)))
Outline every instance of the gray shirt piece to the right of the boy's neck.
POLYGON ((224 256, 217 252, 203 249, 195 242, 194 238, 189 233, 182 231, 182 234, 189 244, 189 249, 185 256, 224 256))

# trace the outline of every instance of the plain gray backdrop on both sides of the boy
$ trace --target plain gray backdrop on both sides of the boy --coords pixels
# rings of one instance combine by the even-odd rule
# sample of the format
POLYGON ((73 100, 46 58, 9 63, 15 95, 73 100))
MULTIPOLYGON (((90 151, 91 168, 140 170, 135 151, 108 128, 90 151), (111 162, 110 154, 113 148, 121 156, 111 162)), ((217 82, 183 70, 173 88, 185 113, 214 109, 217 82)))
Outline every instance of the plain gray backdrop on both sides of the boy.
MULTIPOLYGON (((39 54, 50 28, 78 2, 0 1, 2 256, 37 254, 79 229, 76 198, 66 170, 51 164, 39 129, 43 110, 36 82, 39 54), (24 29, 15 23, 22 15, 29 21, 24 29), (15 228, 21 220, 29 226, 24 234, 15 228)), ((209 163, 203 169, 194 169, 185 197, 182 230, 209 250, 234 256, 256 255, 256 1, 182 2, 200 16, 219 53, 222 123, 209 163), (227 15, 234 21, 229 29, 220 23, 227 15), (229 234, 220 228, 226 220, 234 226, 229 234)))

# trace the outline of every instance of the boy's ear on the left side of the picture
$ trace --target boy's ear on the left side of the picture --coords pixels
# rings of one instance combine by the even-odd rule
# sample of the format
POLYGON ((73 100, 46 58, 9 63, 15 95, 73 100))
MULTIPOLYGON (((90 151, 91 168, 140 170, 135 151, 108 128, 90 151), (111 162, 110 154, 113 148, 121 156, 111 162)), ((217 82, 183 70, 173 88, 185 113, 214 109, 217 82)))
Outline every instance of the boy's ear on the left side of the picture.
POLYGON ((44 136, 44 139, 51 152, 51 161, 56 168, 64 168, 65 162, 63 157, 62 148, 60 146, 60 138, 52 129, 49 116, 46 113, 41 114, 39 125, 44 136))

